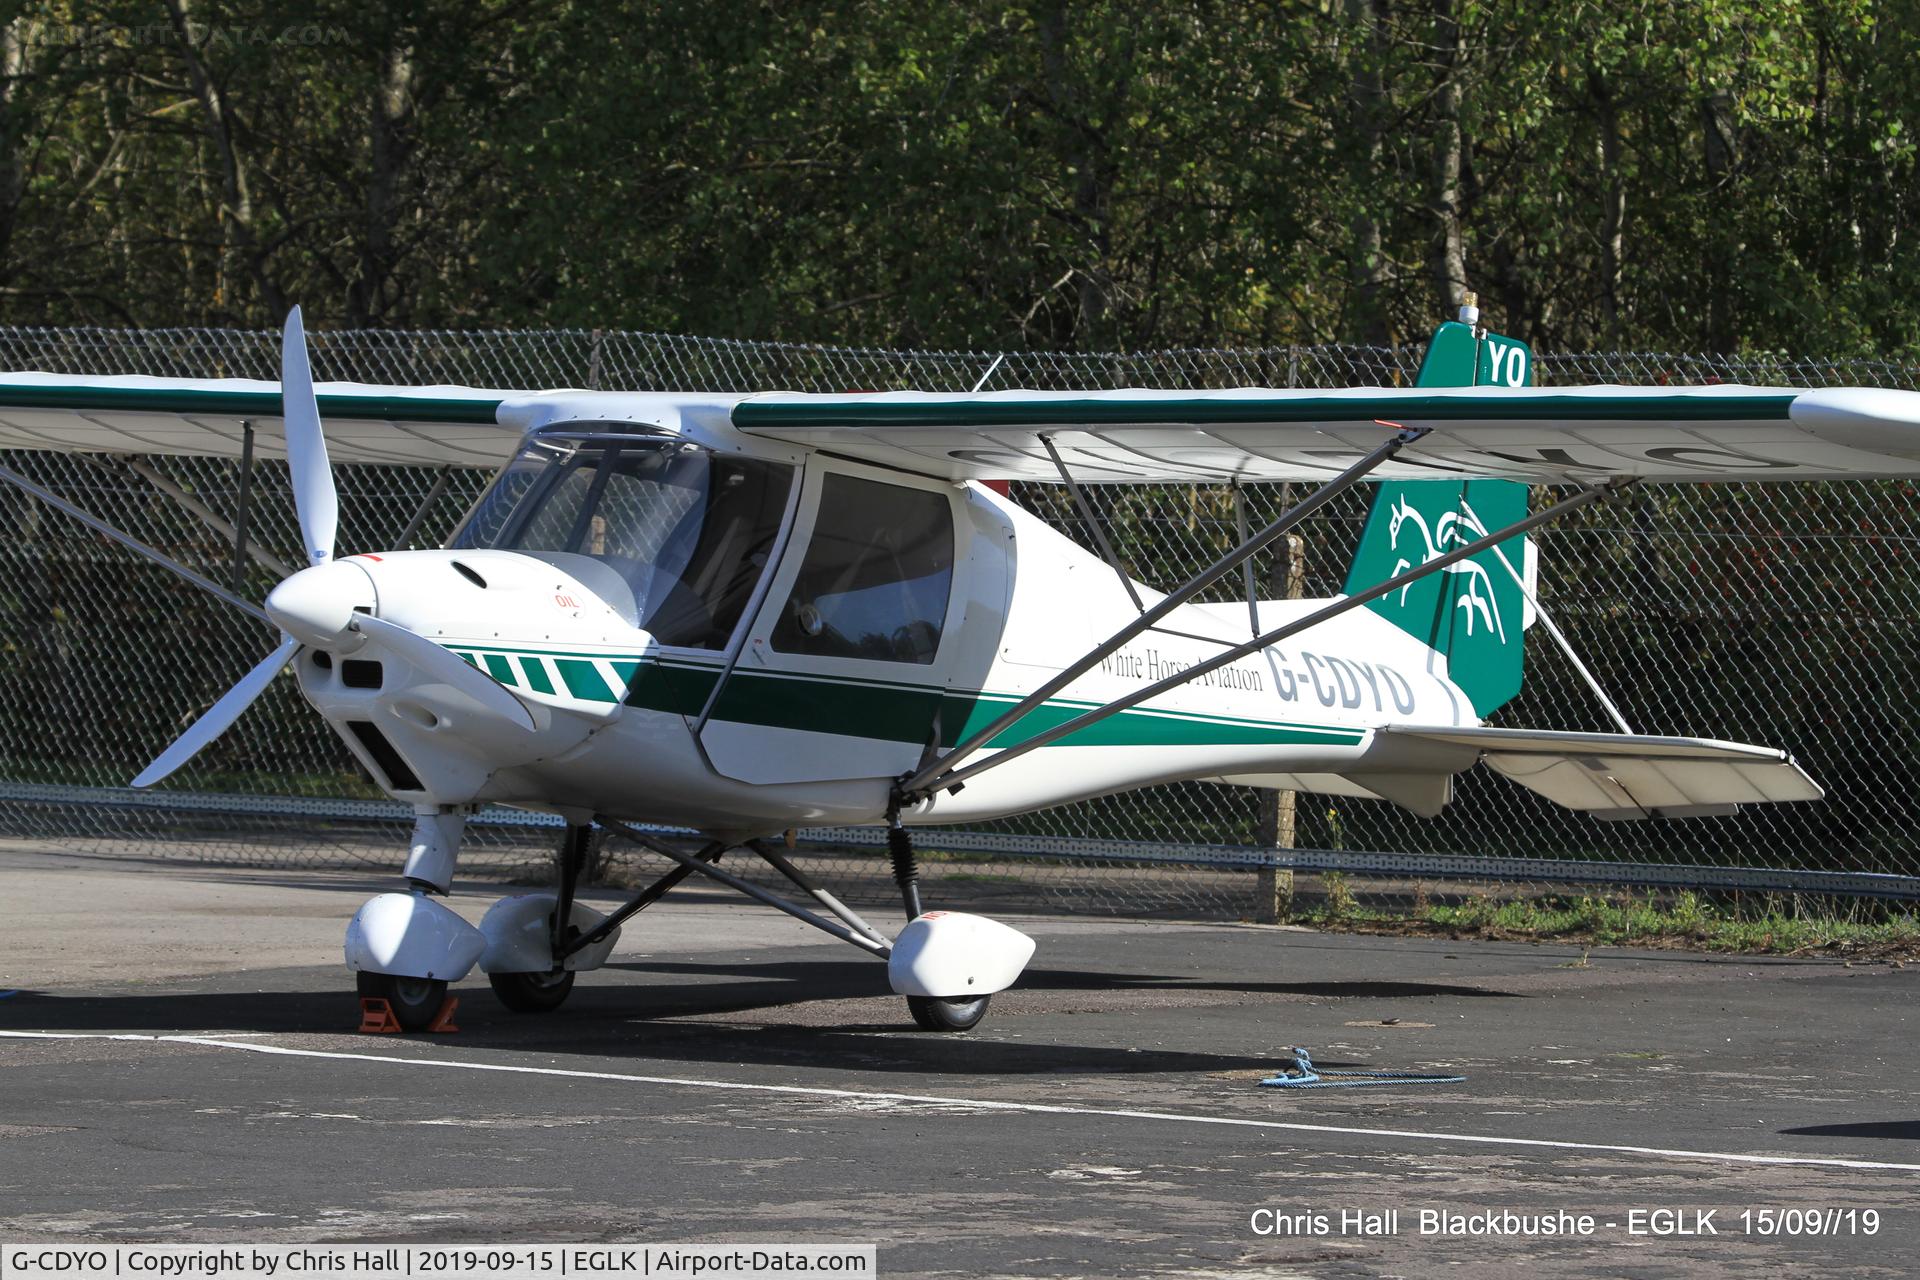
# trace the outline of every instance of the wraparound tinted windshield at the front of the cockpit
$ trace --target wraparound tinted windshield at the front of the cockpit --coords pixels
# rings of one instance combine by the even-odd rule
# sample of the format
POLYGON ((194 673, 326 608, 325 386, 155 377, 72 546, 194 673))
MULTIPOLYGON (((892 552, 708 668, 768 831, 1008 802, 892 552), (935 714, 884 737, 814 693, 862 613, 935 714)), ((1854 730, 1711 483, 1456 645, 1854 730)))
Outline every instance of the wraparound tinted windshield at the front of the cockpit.
POLYGON ((793 468, 676 439, 536 443, 451 547, 564 568, 662 645, 724 649, 787 510, 793 468))

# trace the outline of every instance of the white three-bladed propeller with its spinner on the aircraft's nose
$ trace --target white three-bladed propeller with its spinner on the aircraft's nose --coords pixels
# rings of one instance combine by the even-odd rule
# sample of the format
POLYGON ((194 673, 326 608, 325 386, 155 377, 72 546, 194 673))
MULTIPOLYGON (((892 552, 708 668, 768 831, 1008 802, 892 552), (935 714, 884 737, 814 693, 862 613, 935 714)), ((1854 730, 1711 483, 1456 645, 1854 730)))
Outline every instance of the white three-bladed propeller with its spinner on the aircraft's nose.
POLYGON ((301 645, 336 645, 349 631, 365 643, 380 645, 397 658, 428 672, 480 702, 486 710, 526 729, 534 718, 520 699, 493 677, 468 666, 453 652, 424 635, 359 612, 365 599, 371 604, 372 583, 355 566, 334 564, 334 539, 340 532, 340 491, 334 487, 332 462, 326 459, 326 432, 321 428, 321 403, 313 395, 313 368, 307 363, 307 330, 300 307, 286 313, 280 334, 280 413, 286 418, 286 461, 294 480, 294 510, 300 516, 300 537, 307 549, 307 568, 286 578, 267 595, 267 614, 280 624, 280 645, 259 666, 240 677, 219 702, 188 725, 154 764, 132 779, 134 787, 152 787, 200 748, 225 733, 253 704, 273 677, 278 676, 301 645), (288 635, 294 631, 294 635, 288 635))

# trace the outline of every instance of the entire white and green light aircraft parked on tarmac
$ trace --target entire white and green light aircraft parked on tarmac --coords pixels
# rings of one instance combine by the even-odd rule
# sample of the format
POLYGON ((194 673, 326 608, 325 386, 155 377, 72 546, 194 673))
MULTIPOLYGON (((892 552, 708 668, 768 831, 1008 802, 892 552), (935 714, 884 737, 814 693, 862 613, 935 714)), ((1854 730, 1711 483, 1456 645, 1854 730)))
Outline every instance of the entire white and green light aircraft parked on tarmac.
MULTIPOLYGON (((1444 324, 1413 388, 676 395, 313 386, 296 311, 282 378, 0 376, 0 449, 275 457, 307 568, 265 608, 15 484, 257 614, 278 647, 136 785, 223 733, 292 666, 417 814, 405 889, 348 927, 363 994, 422 1027, 476 965, 553 1009, 620 925, 705 875, 885 958, 927 1029, 979 1021, 1033 944, 924 912, 910 829, 1212 779, 1432 816, 1486 764, 1601 818, 1814 800, 1784 750, 1488 727, 1521 687, 1530 530, 1640 480, 1920 476, 1920 393, 1534 388, 1523 344, 1444 324), (328 428, 323 434, 321 418, 328 428), (330 457, 501 468, 438 551, 336 557, 330 457), (1169 593, 989 487, 1319 482, 1169 593), (1359 482, 1346 591, 1194 603, 1359 482), (1567 497, 1528 512, 1528 486, 1567 497), (480 927, 447 892, 480 804, 559 814, 553 892, 480 927), (603 915, 574 900, 593 823, 676 865, 603 915), (641 825, 689 827, 697 852, 641 825), (893 936, 764 837, 885 823, 893 936), (801 900, 716 865, 751 850, 801 900)), ((1091 512, 1087 512, 1091 518, 1091 512)), ((1098 532, 1098 524, 1092 522, 1098 532)), ((1104 535, 1098 537, 1104 547, 1104 535)))

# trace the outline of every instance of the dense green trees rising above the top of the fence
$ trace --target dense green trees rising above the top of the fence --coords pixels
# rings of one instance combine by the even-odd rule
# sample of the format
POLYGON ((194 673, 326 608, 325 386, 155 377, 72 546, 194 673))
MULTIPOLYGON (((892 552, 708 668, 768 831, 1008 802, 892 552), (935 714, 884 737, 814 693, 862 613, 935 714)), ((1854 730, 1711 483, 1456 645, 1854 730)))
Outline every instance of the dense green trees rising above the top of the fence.
POLYGON ((6 322, 1920 340, 1910 6, 6 12, 6 322))

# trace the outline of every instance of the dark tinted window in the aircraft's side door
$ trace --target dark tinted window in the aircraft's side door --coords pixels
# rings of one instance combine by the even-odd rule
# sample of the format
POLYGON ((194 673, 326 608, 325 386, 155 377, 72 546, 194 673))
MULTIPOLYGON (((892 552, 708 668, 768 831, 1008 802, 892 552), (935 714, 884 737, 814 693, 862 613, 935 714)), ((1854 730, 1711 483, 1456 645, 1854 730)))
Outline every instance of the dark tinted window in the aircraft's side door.
POLYGON ((945 493, 829 474, 806 558, 774 624, 774 649, 931 664, 952 572, 945 493))

